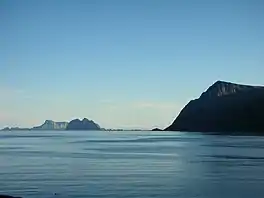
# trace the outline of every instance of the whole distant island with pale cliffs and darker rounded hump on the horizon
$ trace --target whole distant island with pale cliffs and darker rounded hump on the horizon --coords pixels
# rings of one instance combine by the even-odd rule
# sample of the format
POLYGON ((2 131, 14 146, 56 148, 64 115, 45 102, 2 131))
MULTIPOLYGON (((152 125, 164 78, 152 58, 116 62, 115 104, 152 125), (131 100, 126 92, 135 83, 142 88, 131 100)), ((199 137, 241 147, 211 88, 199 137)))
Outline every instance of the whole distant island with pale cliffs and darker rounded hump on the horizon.
POLYGON ((19 128, 19 127, 6 127, 3 131, 27 131, 27 130, 104 130, 93 120, 84 118, 82 121, 74 119, 70 122, 54 122, 52 120, 46 120, 42 125, 32 128, 19 128))

